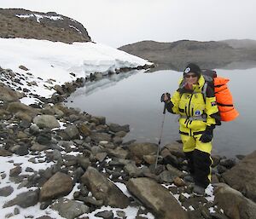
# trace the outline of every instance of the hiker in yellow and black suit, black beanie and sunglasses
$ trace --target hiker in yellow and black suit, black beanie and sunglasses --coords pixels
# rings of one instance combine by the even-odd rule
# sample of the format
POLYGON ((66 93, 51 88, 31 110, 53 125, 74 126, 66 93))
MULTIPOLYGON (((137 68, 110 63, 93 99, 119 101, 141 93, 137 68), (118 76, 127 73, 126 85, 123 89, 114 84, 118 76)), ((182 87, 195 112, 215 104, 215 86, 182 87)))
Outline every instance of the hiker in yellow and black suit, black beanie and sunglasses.
POLYGON ((188 159, 197 195, 203 195, 211 182, 212 130, 220 124, 213 84, 207 85, 206 96, 203 94, 204 84, 200 67, 190 63, 183 71, 183 79, 172 98, 168 93, 162 95, 167 111, 180 115, 183 152, 188 159))

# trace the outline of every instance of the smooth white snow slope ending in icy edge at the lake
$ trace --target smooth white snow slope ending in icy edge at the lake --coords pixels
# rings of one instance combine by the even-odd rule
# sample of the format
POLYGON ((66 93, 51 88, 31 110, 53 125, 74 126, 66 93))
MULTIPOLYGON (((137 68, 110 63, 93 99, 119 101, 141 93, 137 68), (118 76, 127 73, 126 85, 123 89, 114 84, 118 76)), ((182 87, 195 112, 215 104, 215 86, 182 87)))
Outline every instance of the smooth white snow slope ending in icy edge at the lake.
POLYGON ((31 80, 42 78, 43 80, 36 81, 38 86, 34 88, 34 92, 40 92, 45 97, 55 92, 54 89, 44 89, 44 92, 41 90, 49 79, 52 84, 48 87, 53 87, 93 72, 115 72, 120 68, 152 64, 100 43, 67 44, 47 40, 0 38, 0 48, 0 66, 20 74, 32 73, 33 77, 29 77, 31 80), (28 71, 19 66, 26 66, 28 71))

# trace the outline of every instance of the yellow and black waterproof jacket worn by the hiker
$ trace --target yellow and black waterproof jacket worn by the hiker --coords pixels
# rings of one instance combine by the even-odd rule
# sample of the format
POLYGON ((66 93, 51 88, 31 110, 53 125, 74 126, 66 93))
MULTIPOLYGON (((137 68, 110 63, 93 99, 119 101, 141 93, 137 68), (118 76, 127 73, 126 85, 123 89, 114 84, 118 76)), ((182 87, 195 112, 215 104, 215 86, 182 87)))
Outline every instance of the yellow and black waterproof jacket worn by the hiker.
POLYGON ((207 85, 207 95, 204 96, 203 76, 199 78, 198 84, 193 84, 193 91, 185 89, 182 84, 183 80, 171 101, 166 103, 169 112, 180 115, 180 133, 193 136, 201 135, 206 128, 213 130, 215 124, 218 124, 219 113, 212 86, 207 85))

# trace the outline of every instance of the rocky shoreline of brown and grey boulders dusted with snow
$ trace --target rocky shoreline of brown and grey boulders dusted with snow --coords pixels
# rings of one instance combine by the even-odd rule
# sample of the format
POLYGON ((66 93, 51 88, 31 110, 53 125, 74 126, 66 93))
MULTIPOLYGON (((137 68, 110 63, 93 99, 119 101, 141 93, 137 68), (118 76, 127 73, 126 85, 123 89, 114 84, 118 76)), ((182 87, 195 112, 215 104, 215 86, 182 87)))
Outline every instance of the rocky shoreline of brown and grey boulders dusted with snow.
MULTIPOLYGON (((86 80, 104 77, 101 73, 85 81, 78 78, 55 85, 51 98, 34 96, 40 102, 31 106, 19 101, 30 91, 20 90, 22 95, 19 87, 12 86, 22 77, 1 69, 2 81, 13 78, 9 85, 0 83, 0 160, 11 166, 0 171, 0 197, 6 199, 3 209, 9 210, 5 218, 38 204, 41 210, 49 207, 67 219, 90 218, 83 214, 99 209, 95 216, 100 218, 126 218, 128 206, 137 207, 137 219, 150 215, 163 219, 256 218, 255 152, 241 156, 239 162, 213 156, 213 187, 207 188, 206 197, 196 197, 191 193, 193 184, 183 182, 187 163, 181 144, 162 147, 155 169, 157 144, 123 142, 128 124, 106 124, 104 117, 61 103, 86 80), (14 161, 17 156, 20 162, 14 161), (32 165, 24 168, 22 160, 32 165), (38 164, 45 168, 36 168, 38 164), (9 198, 24 188, 26 192, 9 198), (119 210, 102 210, 104 205, 119 210)), ((47 214, 27 217, 52 218, 47 214)))

